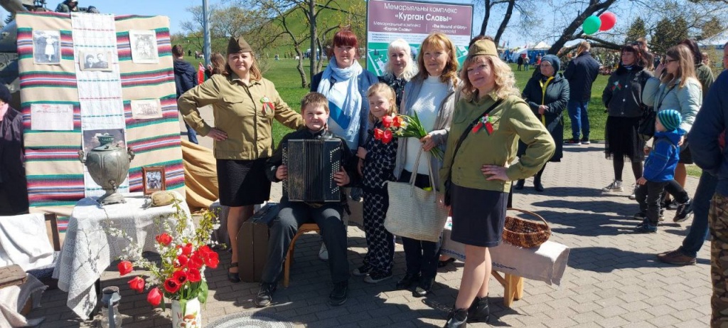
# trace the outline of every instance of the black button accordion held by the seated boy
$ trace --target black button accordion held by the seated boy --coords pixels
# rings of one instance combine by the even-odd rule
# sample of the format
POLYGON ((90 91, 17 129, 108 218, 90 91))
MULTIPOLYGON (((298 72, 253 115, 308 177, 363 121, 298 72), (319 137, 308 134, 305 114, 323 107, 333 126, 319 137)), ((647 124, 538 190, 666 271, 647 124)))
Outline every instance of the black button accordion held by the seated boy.
POLYGON ((288 140, 283 147, 283 165, 288 167, 283 192, 288 200, 340 202, 341 190, 333 174, 341 170, 343 152, 339 139, 288 140))

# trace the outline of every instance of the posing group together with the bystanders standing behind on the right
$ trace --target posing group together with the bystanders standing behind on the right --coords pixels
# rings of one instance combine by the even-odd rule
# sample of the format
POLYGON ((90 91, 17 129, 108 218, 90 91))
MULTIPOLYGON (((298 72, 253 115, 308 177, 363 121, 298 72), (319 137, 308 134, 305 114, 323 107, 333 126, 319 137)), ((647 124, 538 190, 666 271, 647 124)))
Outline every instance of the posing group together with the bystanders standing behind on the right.
MULTIPOLYGON (((590 54, 590 44, 579 44, 577 55, 563 73, 561 60, 556 56, 538 58, 537 69, 519 91, 513 71, 499 58, 488 37, 473 40, 462 68, 455 58, 454 45, 445 34, 427 36, 416 61, 411 59, 407 42, 397 40, 387 51, 386 74, 378 78, 359 65, 355 34, 342 30, 333 36, 333 53, 327 69, 312 79, 311 93, 302 101, 301 115, 280 99, 269 81, 253 74, 257 67, 250 45, 242 38, 231 39, 230 44, 226 69, 182 95, 179 104, 192 128, 215 138, 221 201, 232 206, 228 219, 230 235, 235 235, 242 221, 252 214, 252 206, 268 197, 271 181, 288 178, 280 149, 290 138, 339 140, 346 155, 342 171, 333 179, 341 187, 363 188, 363 227, 368 250, 363 263, 351 272, 346 229, 341 219, 347 195, 342 193, 341 203, 333 204, 295 203, 283 196, 281 212, 272 223, 269 259, 256 305, 264 307, 273 302, 285 251, 298 227, 306 222, 319 224, 330 253, 334 286, 331 305, 346 302, 351 275, 361 276, 371 284, 391 278, 395 239, 384 228, 390 201, 384 182, 414 180, 416 187, 424 190, 432 188, 440 195, 448 191, 451 198, 446 201, 440 197, 440 206, 450 206, 451 239, 465 244, 467 260, 462 282, 446 327, 486 321, 491 272, 488 248, 502 242, 511 181, 517 181, 513 187, 518 190, 524 187, 526 178, 535 176, 534 187, 543 192, 540 177, 547 162, 561 160, 562 144, 590 144, 587 106, 600 69, 590 54), (264 87, 268 87, 264 98, 269 98, 271 105, 258 110, 256 99, 261 94, 254 90, 264 87), (231 116, 218 123, 221 117, 215 114, 216 128, 210 128, 197 112, 197 107, 205 104, 213 104, 215 111, 225 110, 231 116), (566 141, 564 109, 571 118, 571 138, 566 141), (395 138, 391 142, 373 138, 373 129, 381 128, 384 117, 395 113, 416 114, 427 135, 395 138), (244 131, 235 131, 240 125, 226 127, 234 118, 250 122, 244 125, 244 131), (285 136, 275 152, 269 140, 273 119, 289 128, 300 128, 285 136), (478 122, 491 126, 474 128, 478 122), (444 152, 444 158, 432 156, 435 148, 444 152)), ((715 176, 705 171, 695 198, 683 189, 684 164, 692 163, 692 143, 687 142, 686 136, 711 88, 712 75, 692 40, 671 47, 654 71, 656 56, 649 52, 645 42, 625 44, 620 55, 620 64, 602 93, 608 115, 605 155, 614 167, 614 181, 603 191, 624 190, 622 169, 625 160, 630 161, 635 179, 630 198, 640 206, 635 218, 641 223, 635 231, 656 232, 670 202, 676 203, 675 222, 685 221, 695 212, 693 228, 684 245, 658 254, 663 262, 695 263, 695 254, 708 234, 709 200, 718 183, 715 176), (649 137, 644 136, 641 125, 652 122, 651 112, 655 128, 649 136, 652 139, 646 140, 649 137), (673 195, 673 200, 665 198, 665 193, 673 195)), ((442 262, 438 261, 441 240, 403 237, 402 241, 406 270, 395 286, 411 289, 414 297, 424 297, 429 294, 442 262)), ((232 243, 229 278, 239 281, 235 274, 237 241, 232 243)))

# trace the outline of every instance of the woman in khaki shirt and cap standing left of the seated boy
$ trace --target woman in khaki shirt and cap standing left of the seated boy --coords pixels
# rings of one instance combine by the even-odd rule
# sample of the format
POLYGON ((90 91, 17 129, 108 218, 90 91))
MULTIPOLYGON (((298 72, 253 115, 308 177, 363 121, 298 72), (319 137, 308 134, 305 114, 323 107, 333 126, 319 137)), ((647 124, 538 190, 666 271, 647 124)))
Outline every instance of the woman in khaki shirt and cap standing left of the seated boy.
POLYGON ((177 104, 191 128, 215 140, 220 203, 230 207, 228 279, 239 282, 235 237, 242 222, 253 215, 253 206, 270 197, 271 182, 264 164, 273 154, 273 120, 292 129, 300 128, 304 121, 280 98, 273 83, 261 76, 253 49, 242 36, 230 38, 223 74, 192 88, 177 104), (214 128, 197 110, 207 105, 213 106, 214 128))

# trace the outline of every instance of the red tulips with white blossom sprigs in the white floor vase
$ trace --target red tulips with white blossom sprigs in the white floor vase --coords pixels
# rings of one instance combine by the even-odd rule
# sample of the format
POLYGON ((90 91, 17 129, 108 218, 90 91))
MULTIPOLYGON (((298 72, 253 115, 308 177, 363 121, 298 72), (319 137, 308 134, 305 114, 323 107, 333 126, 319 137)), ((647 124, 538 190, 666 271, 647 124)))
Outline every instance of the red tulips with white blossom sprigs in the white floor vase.
MULTIPOLYGON (((210 235, 220 225, 216 216, 209 211, 206 212, 198 227, 194 228, 181 210, 178 200, 175 200, 175 207, 177 213, 174 227, 170 227, 166 218, 155 220, 164 230, 155 237, 154 243, 161 261, 157 263, 143 258, 138 243, 126 238, 129 246, 125 249, 125 254, 120 257, 122 262, 118 265, 122 276, 131 273, 134 266, 149 271, 151 274, 149 278, 136 276, 129 281, 129 286, 136 292, 149 289, 146 300, 155 307, 160 303, 162 308, 165 307, 163 296, 179 301, 182 308, 185 308, 187 300, 195 297, 200 303, 205 303, 207 300, 205 268, 217 268, 220 262, 218 254, 208 246, 215 243, 211 241, 210 235)), ((112 235, 123 235, 120 230, 108 230, 113 230, 112 235)))

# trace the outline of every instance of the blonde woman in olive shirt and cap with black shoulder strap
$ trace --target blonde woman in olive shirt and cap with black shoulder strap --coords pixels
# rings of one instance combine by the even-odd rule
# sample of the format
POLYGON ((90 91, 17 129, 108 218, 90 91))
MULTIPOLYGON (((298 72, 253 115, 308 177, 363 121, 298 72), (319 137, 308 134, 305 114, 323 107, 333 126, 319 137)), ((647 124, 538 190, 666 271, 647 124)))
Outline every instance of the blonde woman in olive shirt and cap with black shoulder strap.
POLYGON ((555 151, 553 138, 519 96, 513 71, 498 58, 492 41, 470 47, 460 77, 462 97, 455 104, 439 180, 440 191, 449 187, 451 240, 465 244, 465 267, 446 328, 488 320, 488 248, 502 241, 511 181, 536 174, 555 151), (513 163, 519 139, 526 149, 513 163))

